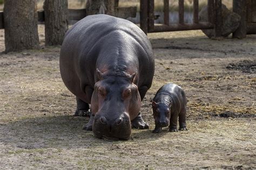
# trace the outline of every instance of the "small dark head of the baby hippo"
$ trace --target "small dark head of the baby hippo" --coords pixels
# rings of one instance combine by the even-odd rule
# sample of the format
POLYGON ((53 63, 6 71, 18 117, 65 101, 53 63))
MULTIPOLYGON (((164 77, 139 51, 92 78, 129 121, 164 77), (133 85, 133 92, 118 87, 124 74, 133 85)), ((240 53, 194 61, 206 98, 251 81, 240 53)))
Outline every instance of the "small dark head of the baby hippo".
POLYGON ((170 124, 171 104, 156 103, 152 101, 154 123, 159 127, 166 127, 170 124))

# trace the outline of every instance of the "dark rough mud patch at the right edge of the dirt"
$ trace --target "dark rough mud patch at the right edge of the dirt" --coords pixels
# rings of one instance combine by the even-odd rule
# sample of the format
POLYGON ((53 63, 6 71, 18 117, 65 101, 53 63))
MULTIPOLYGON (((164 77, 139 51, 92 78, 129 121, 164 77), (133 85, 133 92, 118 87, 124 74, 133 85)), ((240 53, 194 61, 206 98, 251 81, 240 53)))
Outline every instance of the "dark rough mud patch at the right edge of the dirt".
POLYGON ((242 60, 238 63, 230 63, 226 69, 240 70, 244 73, 256 73, 256 60, 242 60))

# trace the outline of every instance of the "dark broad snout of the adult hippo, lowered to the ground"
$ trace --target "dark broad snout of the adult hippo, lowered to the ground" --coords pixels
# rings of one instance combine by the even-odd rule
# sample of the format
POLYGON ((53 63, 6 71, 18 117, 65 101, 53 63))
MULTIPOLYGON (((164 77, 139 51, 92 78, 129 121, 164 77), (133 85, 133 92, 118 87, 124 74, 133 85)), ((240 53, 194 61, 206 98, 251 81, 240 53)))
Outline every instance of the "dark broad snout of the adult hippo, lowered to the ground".
POLYGON ((92 131, 98 138, 127 140, 131 135, 131 123, 129 116, 123 114, 117 118, 109 118, 107 115, 96 115, 92 131))

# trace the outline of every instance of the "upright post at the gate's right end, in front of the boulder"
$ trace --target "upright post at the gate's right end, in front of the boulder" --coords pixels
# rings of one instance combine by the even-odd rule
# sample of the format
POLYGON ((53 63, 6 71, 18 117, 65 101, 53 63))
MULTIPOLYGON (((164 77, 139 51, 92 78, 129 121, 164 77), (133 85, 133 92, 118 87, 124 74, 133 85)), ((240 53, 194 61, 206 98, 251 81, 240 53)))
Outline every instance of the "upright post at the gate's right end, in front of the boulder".
POLYGON ((221 0, 215 0, 215 37, 221 37, 222 33, 221 5, 221 0))

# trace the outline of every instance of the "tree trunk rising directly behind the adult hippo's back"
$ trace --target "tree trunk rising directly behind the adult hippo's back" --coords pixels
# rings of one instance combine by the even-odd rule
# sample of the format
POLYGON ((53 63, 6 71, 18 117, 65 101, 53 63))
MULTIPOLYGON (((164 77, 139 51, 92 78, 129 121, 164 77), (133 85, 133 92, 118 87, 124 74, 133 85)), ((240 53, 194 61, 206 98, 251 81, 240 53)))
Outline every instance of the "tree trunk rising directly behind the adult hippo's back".
POLYGON ((118 0, 87 0, 86 12, 87 15, 103 13, 114 16, 117 5, 118 0))

